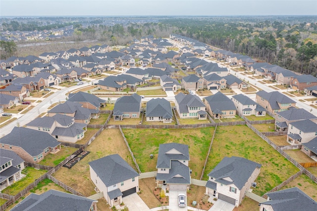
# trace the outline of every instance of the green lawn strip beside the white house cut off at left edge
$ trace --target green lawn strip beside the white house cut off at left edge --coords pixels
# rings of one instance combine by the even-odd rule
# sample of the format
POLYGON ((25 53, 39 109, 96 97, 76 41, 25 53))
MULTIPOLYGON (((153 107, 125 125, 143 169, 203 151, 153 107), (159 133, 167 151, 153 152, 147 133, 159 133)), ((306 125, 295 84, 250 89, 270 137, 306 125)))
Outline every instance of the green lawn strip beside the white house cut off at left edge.
POLYGON ((3 191, 1 191, 1 193, 15 196, 20 191, 29 186, 31 183, 33 183, 36 179, 40 178, 46 172, 47 170, 38 170, 32 167, 26 167, 22 170, 22 174, 25 174, 26 176, 5 188, 3 191))

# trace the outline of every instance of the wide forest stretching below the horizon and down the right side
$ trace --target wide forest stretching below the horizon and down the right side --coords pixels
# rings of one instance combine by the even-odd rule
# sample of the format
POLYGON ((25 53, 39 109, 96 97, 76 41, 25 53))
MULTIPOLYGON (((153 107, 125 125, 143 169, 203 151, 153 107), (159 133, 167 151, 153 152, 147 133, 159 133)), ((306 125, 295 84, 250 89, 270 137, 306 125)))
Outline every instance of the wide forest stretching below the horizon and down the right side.
POLYGON ((5 19, 1 27, 2 31, 49 30, 70 24, 74 33, 68 40, 126 45, 146 35, 158 38, 175 33, 258 61, 317 75, 316 16, 24 18, 5 19))

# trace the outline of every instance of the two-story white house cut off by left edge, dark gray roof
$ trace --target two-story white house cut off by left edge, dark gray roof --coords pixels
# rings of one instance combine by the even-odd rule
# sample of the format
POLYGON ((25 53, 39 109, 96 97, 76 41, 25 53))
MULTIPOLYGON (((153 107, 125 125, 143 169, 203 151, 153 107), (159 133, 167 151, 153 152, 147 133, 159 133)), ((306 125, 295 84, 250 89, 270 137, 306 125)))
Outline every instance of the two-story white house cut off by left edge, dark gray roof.
POLYGON ((0 148, 0 191, 22 178, 24 160, 15 152, 0 148))

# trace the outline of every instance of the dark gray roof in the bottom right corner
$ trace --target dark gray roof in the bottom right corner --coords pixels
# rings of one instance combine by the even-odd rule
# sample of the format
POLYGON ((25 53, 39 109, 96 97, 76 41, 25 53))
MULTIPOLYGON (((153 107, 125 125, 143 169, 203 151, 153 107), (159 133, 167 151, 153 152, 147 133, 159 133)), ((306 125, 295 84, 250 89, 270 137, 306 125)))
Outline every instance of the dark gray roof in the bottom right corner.
POLYGON ((289 188, 266 194, 270 201, 260 204, 270 205, 274 211, 316 211, 317 202, 299 188, 289 188))

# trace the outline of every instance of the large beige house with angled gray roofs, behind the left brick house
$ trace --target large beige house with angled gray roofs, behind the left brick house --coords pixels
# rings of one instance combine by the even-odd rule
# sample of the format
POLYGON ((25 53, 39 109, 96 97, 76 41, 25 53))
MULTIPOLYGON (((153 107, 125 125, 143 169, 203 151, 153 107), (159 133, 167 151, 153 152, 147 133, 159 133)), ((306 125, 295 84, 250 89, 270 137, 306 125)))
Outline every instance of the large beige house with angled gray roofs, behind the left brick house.
POLYGON ((74 117, 55 114, 54 116, 38 117, 26 124, 27 128, 45 131, 59 142, 76 143, 82 140, 87 131, 87 124, 75 123, 74 117))

